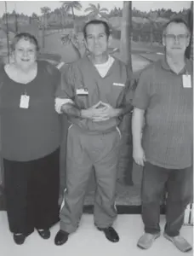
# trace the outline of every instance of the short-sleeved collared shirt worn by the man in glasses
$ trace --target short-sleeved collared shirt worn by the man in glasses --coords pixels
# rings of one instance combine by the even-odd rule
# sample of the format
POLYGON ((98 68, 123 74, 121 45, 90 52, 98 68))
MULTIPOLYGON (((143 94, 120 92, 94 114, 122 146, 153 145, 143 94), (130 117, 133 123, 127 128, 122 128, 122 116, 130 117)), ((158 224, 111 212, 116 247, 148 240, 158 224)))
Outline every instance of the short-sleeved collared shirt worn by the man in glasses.
POLYGON ((163 58, 140 74, 133 105, 145 109, 142 145, 151 164, 167 169, 192 165, 193 71, 192 62, 177 74, 163 58), (191 76, 191 88, 183 86, 183 75, 191 76))

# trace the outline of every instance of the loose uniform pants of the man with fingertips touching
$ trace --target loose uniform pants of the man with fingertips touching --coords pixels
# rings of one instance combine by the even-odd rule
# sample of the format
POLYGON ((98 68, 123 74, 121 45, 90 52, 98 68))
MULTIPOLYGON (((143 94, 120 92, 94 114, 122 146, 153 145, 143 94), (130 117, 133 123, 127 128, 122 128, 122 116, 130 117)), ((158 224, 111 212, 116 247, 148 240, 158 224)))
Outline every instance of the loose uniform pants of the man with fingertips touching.
POLYGON ((94 168, 97 188, 94 198, 94 224, 106 228, 117 218, 115 207, 119 131, 91 135, 72 125, 66 147, 66 191, 60 211, 60 229, 77 230, 83 213, 88 179, 94 168))

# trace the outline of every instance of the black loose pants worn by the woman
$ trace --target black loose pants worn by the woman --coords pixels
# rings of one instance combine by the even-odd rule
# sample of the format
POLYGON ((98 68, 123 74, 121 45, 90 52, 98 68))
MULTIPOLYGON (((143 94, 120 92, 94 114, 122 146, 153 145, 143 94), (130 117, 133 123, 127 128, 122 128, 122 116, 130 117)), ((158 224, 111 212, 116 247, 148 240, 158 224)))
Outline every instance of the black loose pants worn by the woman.
POLYGON ((3 159, 9 230, 29 236, 59 221, 60 149, 26 162, 3 159))

